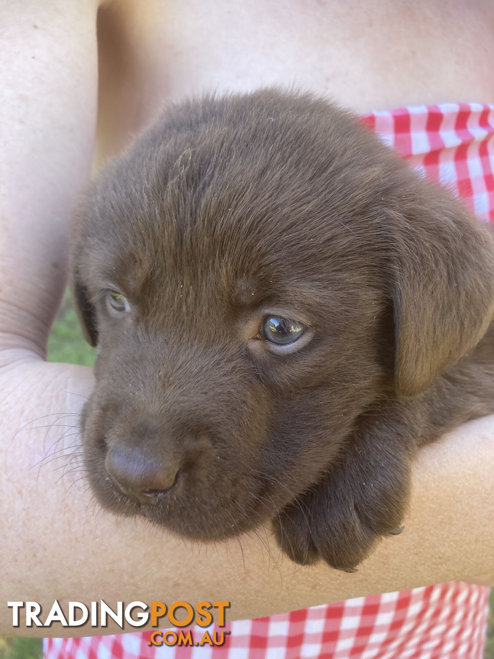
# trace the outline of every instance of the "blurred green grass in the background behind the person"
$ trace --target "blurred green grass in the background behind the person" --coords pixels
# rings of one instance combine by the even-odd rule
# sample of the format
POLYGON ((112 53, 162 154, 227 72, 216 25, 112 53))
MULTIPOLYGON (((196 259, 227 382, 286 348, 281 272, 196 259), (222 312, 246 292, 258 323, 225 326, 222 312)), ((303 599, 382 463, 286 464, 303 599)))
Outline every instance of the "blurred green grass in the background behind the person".
MULTIPOLYGON (((67 293, 51 331, 48 360, 92 366, 95 358, 96 350, 84 341, 70 295, 67 293)), ((40 639, 0 637, 0 659, 40 659, 41 656, 40 639)), ((484 659, 494 659, 494 588, 491 590, 491 614, 484 659)))

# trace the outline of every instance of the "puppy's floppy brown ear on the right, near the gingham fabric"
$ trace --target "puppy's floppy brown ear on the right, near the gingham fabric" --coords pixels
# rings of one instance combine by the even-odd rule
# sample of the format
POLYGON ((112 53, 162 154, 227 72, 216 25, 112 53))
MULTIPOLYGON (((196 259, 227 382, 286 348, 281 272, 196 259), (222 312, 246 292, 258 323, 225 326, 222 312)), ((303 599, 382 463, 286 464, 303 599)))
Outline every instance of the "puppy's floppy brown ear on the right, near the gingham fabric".
MULTIPOLYGON (((422 184, 423 185, 423 184, 422 184)), ((461 202, 429 186, 391 211, 395 386, 418 395, 480 341, 494 318, 494 240, 461 202)))

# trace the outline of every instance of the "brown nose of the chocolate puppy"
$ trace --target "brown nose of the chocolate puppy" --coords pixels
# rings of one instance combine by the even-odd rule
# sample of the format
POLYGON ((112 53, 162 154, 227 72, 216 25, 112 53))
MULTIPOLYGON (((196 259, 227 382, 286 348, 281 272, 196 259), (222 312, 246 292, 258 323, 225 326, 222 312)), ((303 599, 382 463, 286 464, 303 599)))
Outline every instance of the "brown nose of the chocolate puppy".
POLYGON ((105 467, 119 489, 138 503, 157 503, 177 480, 178 466, 153 461, 138 446, 109 449, 105 467))

